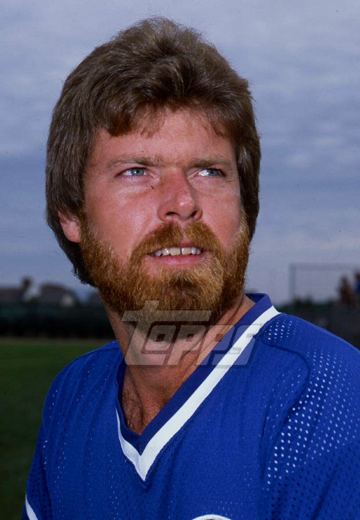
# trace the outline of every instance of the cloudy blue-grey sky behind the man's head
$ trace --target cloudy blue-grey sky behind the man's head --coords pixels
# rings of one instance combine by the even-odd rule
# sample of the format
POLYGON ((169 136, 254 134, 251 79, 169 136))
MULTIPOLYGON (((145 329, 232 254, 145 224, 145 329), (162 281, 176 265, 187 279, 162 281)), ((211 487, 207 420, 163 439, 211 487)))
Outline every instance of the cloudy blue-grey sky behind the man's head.
MULTIPOLYGON (((159 14, 204 32, 250 81, 263 160, 248 287, 281 302, 291 263, 349 264, 349 275, 360 264, 357 1, 3 0, 0 9, 1 285, 29 275, 82 287, 44 223, 51 110, 92 48, 159 14)), ((334 292, 342 271, 327 272, 299 274, 299 292, 334 292)))

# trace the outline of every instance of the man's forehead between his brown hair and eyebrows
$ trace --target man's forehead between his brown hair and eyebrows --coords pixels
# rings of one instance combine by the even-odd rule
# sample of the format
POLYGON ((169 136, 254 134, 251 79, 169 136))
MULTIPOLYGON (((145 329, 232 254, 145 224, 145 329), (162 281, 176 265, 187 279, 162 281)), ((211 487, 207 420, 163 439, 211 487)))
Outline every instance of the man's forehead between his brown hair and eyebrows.
POLYGON ((216 132, 204 112, 190 110, 145 115, 135 129, 118 136, 111 136, 101 128, 87 170, 121 157, 151 157, 174 165, 195 157, 222 157, 236 162, 234 146, 223 128, 220 126, 216 132))

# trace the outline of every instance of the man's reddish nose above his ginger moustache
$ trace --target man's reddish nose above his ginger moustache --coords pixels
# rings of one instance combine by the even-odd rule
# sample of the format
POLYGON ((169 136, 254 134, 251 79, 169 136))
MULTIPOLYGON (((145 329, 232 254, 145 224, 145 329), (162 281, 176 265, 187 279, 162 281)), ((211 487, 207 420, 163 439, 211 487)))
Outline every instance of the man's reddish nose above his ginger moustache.
POLYGON ((199 220, 202 209, 197 193, 183 172, 172 172, 164 176, 161 183, 161 200, 158 205, 158 217, 163 222, 178 220, 199 220))

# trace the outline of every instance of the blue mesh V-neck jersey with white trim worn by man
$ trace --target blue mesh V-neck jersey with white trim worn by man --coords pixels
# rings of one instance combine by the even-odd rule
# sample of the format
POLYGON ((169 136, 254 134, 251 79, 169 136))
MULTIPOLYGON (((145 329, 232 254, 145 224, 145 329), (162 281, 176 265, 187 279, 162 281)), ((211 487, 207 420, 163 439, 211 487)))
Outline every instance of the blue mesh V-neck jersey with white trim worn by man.
POLYGON ((268 296, 142 435, 119 406, 116 342, 46 399, 23 518, 360 518, 360 353, 268 296))

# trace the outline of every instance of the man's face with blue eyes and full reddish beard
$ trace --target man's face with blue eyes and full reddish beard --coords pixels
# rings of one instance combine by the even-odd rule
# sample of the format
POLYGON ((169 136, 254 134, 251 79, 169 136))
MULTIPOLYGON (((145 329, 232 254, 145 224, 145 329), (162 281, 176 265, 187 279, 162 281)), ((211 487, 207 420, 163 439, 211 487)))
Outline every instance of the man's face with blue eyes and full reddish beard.
POLYGON ((201 113, 146 124, 99 132, 74 238, 113 309, 159 300, 218 316, 241 294, 248 259, 233 146, 201 113))

